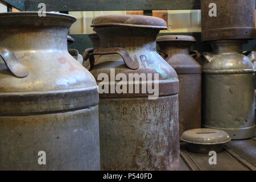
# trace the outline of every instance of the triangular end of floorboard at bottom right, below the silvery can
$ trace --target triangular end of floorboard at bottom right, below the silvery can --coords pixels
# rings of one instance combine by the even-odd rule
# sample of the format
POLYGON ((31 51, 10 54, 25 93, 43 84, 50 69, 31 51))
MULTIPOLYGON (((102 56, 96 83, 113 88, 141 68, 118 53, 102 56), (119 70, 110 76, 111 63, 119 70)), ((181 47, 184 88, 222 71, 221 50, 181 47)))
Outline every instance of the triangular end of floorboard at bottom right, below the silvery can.
POLYGON ((256 141, 254 139, 232 140, 226 146, 256 167, 256 141))

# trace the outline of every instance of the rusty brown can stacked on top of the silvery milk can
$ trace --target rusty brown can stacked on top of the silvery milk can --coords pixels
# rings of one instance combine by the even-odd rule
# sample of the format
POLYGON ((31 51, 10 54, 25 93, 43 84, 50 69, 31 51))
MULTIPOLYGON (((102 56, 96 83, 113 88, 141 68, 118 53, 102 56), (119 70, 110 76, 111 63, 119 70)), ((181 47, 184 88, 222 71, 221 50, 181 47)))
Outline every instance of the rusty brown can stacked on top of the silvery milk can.
POLYGON ((202 40, 255 39, 255 0, 201 0, 202 40), (217 15, 209 16, 210 3, 217 15))

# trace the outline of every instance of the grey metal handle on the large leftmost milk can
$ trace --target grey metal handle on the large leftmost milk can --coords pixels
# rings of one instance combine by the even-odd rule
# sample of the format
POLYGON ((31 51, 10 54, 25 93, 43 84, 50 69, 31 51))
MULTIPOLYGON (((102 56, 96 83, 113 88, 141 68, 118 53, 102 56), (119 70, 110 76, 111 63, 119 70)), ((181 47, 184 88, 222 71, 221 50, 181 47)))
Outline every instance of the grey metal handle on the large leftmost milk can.
POLYGON ((19 62, 11 49, 0 46, 0 56, 5 62, 6 67, 11 71, 11 73, 13 73, 14 76, 23 78, 30 74, 28 69, 19 62))

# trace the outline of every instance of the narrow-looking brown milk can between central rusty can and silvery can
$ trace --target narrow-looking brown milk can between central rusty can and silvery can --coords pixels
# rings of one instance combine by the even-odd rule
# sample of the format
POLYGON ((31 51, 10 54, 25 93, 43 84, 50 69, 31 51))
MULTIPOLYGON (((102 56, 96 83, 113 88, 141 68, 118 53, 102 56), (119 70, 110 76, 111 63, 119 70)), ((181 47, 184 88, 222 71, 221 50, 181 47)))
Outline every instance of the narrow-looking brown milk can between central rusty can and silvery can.
POLYGON ((201 65, 191 56, 193 36, 165 35, 156 39, 167 53, 165 60, 176 71, 179 83, 179 132, 201 127, 201 65))

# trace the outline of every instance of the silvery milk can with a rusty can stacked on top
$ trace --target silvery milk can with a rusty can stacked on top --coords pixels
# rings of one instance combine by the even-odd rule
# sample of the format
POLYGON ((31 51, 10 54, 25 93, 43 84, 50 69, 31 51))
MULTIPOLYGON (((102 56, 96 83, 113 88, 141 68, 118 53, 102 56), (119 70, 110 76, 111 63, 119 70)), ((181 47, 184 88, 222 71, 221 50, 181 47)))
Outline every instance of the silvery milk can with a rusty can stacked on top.
POLYGON ((232 139, 254 137, 255 69, 241 54, 239 40, 212 42, 203 67, 203 126, 226 131, 232 139))

